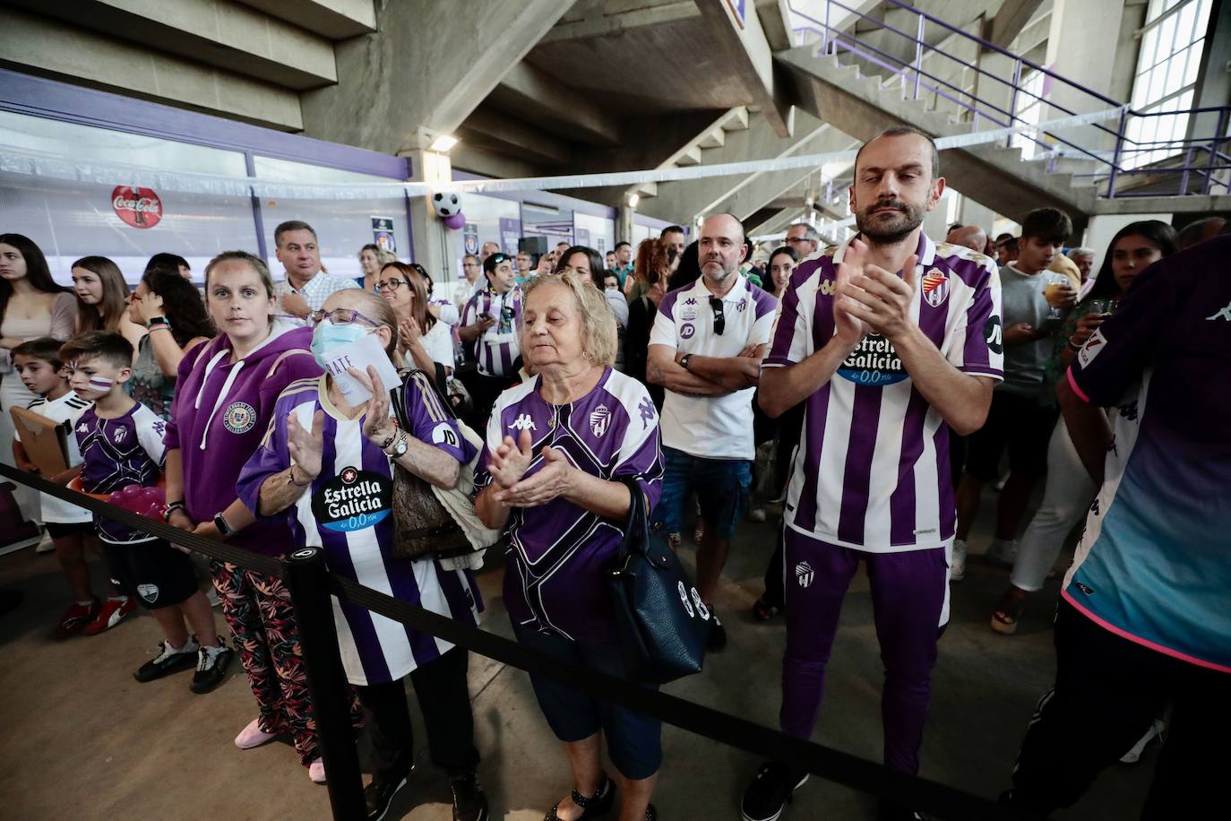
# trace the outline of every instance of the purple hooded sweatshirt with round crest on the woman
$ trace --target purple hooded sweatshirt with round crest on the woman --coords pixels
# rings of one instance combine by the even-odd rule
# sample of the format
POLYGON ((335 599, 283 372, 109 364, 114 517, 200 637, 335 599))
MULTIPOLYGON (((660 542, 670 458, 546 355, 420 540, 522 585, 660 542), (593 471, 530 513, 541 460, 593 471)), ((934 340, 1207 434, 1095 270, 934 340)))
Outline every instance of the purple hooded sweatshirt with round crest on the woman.
MULTIPOLYGON (((235 483, 270 427, 282 389, 321 374, 309 347, 311 330, 276 321, 270 337, 231 363, 225 334, 198 345, 180 362, 166 448, 183 465, 183 503, 193 522, 208 522, 236 499, 235 483)), ((229 543, 266 555, 294 548, 284 524, 257 521, 229 543)))

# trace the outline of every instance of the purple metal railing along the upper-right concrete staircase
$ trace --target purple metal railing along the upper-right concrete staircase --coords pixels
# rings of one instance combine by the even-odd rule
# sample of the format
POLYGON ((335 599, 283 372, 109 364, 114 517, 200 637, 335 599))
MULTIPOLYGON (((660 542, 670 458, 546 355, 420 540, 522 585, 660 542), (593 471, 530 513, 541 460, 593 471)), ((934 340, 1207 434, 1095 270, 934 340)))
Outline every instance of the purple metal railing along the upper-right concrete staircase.
MULTIPOLYGON (((1231 107, 1221 108, 1192 108, 1183 111, 1163 111, 1163 112, 1137 112, 1129 108, 1123 102, 1118 102, 1107 95, 1087 89, 1086 86, 1073 82, 1072 80, 1056 74, 1055 71, 1039 65, 1032 60, 1028 60, 1018 54, 990 43, 975 34, 963 31, 961 28, 953 26, 938 17, 928 15, 927 12, 912 9, 901 0, 885 0, 890 6, 895 9, 901 9, 902 11, 915 15, 916 26, 915 33, 902 31, 890 26, 884 20, 873 17, 868 14, 853 9, 840 0, 826 0, 824 20, 817 20, 801 12, 796 9, 792 11, 800 18, 808 21, 808 26, 796 27, 795 32, 798 34, 817 34, 820 37, 820 46, 816 49, 817 54, 827 54, 837 57, 840 49, 844 49, 852 55, 879 68, 885 69, 892 75, 901 78, 902 84, 902 97, 907 98, 910 94, 911 98, 918 100, 920 92, 936 95, 937 100, 945 100, 953 106, 955 106, 958 112, 965 112, 970 116, 970 122, 974 128, 977 129, 980 119, 987 119, 998 127, 1007 128, 1014 124, 1029 126, 1032 129, 1035 123, 1022 118, 1018 114, 1019 101, 1023 96, 1037 101, 1039 106, 1046 106, 1050 110, 1057 112, 1061 117, 1073 116, 1077 112, 1067 108, 1062 105, 1049 100, 1055 91, 1056 86, 1064 86, 1076 92, 1075 97, 1080 98, 1085 96, 1091 101, 1096 110, 1098 107, 1113 107, 1120 108, 1120 117, 1117 121, 1115 128, 1109 128, 1102 123, 1089 123, 1083 126, 1083 133, 1093 135, 1096 140, 1103 142, 1105 144, 1114 144, 1114 148, 1087 148, 1085 145, 1078 145, 1077 143, 1067 139, 1060 134, 1055 134, 1048 130, 1035 130, 1033 135, 1023 134, 1028 140, 1035 143, 1037 146, 1044 149, 1048 158, 1048 171, 1054 171, 1056 161, 1060 156, 1076 156, 1085 159, 1096 164, 1097 169, 1093 172, 1076 172, 1073 177, 1089 177, 1093 180, 1105 177, 1107 188, 1103 196, 1105 197, 1126 197, 1126 196, 1155 196, 1158 191, 1153 190, 1156 186, 1149 185, 1150 177, 1161 177, 1162 175, 1177 175, 1179 180, 1179 188, 1177 193, 1190 193, 1189 182, 1193 175, 1197 175, 1200 180, 1200 193, 1211 193, 1214 186, 1219 186, 1224 190, 1231 191, 1229 183, 1225 180, 1220 180, 1217 175, 1224 171, 1231 171, 1231 156, 1225 151, 1227 148, 1227 127, 1231 124, 1231 107), (833 10, 838 10, 837 14, 832 14, 833 10), (890 54, 884 49, 876 48, 875 46, 859 39, 853 33, 847 33, 841 28, 831 25, 831 18, 840 16, 841 12, 853 15, 860 20, 869 21, 876 26, 878 31, 890 32, 900 38, 905 44, 908 44, 915 54, 913 59, 902 59, 901 57, 890 54), (979 52, 996 52, 1013 60, 1013 78, 1012 80, 1006 80, 991 71, 987 71, 974 63, 968 63, 960 58, 954 57, 947 50, 929 46, 926 39, 927 26, 932 25, 939 27, 940 30, 948 32, 945 38, 950 34, 958 36, 971 44, 976 46, 979 52), (937 74, 924 70, 923 57, 926 54, 939 55, 944 59, 956 63, 963 69, 971 70, 979 75, 979 78, 995 81, 1007 86, 1009 92, 1008 108, 1003 108, 988 100, 977 96, 972 91, 968 91, 963 87, 954 85, 952 81, 945 80, 937 74), (1022 78, 1023 71, 1033 73, 1037 71, 1044 78, 1050 79, 1051 87, 1045 94, 1037 94, 1030 89, 1023 86, 1022 78), (1133 122, 1131 118, 1139 117, 1177 117, 1188 116, 1189 128, 1193 124, 1193 117, 1198 114, 1210 114, 1217 112, 1216 126, 1214 128, 1214 134, 1211 137, 1185 137, 1181 139, 1171 140, 1136 140, 1129 135, 1129 126, 1133 122), (1166 156, 1160 160, 1161 165, 1155 165, 1153 162, 1146 162, 1146 167, 1139 167, 1139 160, 1141 158, 1150 159, 1157 153, 1166 153, 1166 156), (1108 156, 1108 154, 1110 156, 1108 156), (1168 165, 1169 161, 1176 158, 1183 158, 1182 166, 1168 165), (1204 162, 1201 161, 1204 159, 1204 162), (1124 180, 1125 177, 1137 177, 1145 178, 1147 185, 1134 186, 1133 191, 1125 190, 1124 180), (1118 188, 1119 185, 1119 188, 1118 188)), ((1027 103, 1033 105, 1033 103, 1027 103)), ((1009 137, 1006 140, 1006 145, 1012 145, 1013 138, 1009 137)))

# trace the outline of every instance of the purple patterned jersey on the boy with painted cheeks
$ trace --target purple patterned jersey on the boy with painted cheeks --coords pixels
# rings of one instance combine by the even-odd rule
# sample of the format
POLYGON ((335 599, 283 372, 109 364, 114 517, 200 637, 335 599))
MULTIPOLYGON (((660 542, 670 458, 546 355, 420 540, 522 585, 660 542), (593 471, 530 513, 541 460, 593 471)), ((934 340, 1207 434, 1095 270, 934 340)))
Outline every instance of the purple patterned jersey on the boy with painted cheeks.
MULTIPOLYGON (((95 407, 86 409, 73 427, 81 451, 81 490, 112 494, 128 485, 155 486, 166 457, 162 448, 165 428, 166 422, 140 402, 116 419, 100 419, 95 407)), ((94 527, 98 538, 111 544, 158 538, 97 513, 94 527)))

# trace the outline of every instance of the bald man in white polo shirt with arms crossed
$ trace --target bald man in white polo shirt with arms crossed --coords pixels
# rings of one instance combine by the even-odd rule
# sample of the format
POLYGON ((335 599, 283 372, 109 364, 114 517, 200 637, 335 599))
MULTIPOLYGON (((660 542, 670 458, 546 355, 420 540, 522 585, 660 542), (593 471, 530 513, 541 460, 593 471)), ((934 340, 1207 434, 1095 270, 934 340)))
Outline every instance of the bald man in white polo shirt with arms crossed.
MULTIPOLYGON (((740 220, 709 217, 698 240, 700 277, 670 292, 650 332, 646 378, 666 388, 662 497, 654 527, 678 533, 691 491, 705 523, 697 590, 713 608, 726 550, 752 485, 752 395, 778 300, 739 274, 747 254, 740 220)), ((726 644, 715 615, 710 649, 726 644)))

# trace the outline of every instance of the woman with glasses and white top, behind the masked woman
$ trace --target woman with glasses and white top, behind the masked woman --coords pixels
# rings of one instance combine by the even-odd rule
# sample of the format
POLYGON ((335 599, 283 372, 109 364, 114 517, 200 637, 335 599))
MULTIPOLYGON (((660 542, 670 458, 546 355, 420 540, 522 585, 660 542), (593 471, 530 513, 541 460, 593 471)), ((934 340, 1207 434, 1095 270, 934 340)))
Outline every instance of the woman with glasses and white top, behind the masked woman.
POLYGON ((405 364, 426 370, 443 389, 453 374, 453 335, 427 310, 422 278, 405 262, 390 262, 380 268, 377 290, 398 316, 398 352, 405 364))

